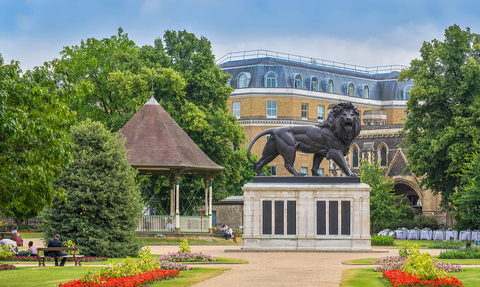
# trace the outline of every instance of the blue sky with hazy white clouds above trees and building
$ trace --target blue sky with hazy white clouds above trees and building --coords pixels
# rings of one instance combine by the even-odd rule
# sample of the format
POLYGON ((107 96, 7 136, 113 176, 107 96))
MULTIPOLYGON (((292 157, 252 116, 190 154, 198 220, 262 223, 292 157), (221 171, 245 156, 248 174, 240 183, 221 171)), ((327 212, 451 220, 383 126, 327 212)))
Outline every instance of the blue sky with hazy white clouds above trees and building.
POLYGON ((0 0, 0 53, 32 69, 119 27, 139 46, 166 30, 212 43, 216 58, 266 49, 361 66, 409 65, 457 24, 480 33, 480 1, 0 0))

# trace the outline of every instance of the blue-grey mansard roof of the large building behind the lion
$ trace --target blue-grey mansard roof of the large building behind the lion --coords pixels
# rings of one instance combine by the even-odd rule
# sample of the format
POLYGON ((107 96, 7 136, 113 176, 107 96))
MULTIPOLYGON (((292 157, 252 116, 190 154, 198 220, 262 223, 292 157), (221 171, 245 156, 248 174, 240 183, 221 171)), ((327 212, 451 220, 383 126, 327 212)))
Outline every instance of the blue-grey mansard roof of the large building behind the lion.
POLYGON ((334 83, 333 93, 346 95, 349 83, 354 85, 354 97, 362 97, 361 90, 367 85, 369 99, 372 100, 404 100, 403 91, 413 82, 397 82, 399 71, 387 70, 386 73, 361 72, 341 67, 325 67, 316 63, 308 64, 292 60, 272 57, 255 58, 239 61, 226 61, 219 65, 224 73, 232 75, 230 85, 238 88, 238 77, 245 73, 248 77, 247 88, 263 88, 266 86, 265 76, 273 72, 277 76, 278 88, 294 88, 294 78, 300 75, 302 89, 310 89, 312 78, 317 78, 318 91, 325 92, 326 82, 334 83))

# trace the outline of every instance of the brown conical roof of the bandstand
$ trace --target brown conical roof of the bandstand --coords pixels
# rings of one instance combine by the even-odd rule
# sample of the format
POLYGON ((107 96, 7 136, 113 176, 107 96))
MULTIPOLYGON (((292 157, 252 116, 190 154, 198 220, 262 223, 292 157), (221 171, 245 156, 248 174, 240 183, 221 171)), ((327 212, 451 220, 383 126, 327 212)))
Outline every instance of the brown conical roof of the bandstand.
POLYGON ((127 141, 128 162, 140 174, 202 174, 214 176, 224 168, 214 163, 150 98, 119 131, 127 141))

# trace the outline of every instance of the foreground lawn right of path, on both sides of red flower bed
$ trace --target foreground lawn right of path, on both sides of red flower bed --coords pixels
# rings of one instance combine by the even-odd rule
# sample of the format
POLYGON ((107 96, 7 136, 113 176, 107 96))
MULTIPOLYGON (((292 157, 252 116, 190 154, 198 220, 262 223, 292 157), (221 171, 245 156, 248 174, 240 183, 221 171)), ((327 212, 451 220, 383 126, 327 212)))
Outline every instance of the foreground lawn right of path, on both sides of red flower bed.
MULTIPOLYGON (((464 268, 464 272, 449 273, 462 281, 465 287, 480 286, 480 272, 478 268, 464 268)), ((381 287, 384 286, 382 273, 374 272, 373 268, 352 268, 343 270, 342 287, 381 287)))

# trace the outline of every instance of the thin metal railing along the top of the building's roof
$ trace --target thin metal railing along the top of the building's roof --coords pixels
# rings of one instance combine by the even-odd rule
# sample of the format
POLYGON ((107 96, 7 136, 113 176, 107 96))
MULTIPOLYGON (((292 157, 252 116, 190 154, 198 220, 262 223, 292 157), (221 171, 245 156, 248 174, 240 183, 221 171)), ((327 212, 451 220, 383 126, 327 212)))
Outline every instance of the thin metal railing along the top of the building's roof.
POLYGON ((215 60, 217 65, 232 62, 232 61, 242 61, 242 60, 252 60, 252 59, 261 59, 261 58, 273 58, 279 60, 287 60, 292 62, 299 62, 314 66, 334 68, 340 70, 346 70, 351 72, 365 73, 365 74, 385 74, 400 72, 403 68, 407 66, 403 65, 385 65, 385 66, 373 66, 365 67, 359 65, 346 64, 341 62, 329 61, 324 59, 317 59, 299 55, 292 55, 287 53, 269 51, 269 50, 250 50, 243 52, 232 52, 227 53, 225 56, 221 57, 218 60, 215 60))

